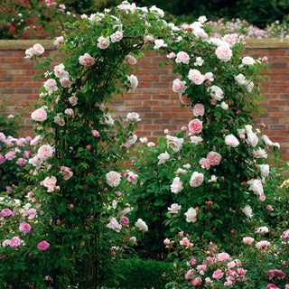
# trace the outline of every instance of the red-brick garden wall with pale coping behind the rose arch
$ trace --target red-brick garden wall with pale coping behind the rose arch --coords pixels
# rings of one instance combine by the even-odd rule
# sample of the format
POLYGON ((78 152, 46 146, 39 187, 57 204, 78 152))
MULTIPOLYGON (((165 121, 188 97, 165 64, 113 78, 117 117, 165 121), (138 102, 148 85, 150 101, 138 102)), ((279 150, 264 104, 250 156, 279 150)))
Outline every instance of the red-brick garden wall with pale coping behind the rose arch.
MULTIPOLYGON (((37 41, 36 41, 37 42, 37 41)), ((42 82, 36 83, 33 75, 35 64, 25 59, 24 50, 31 47, 35 41, 0 41, 0 93, 9 97, 9 111, 14 113, 23 107, 24 128, 22 135, 28 135, 33 128, 30 112, 33 102, 37 101, 38 89, 42 82)), ((55 54, 50 41, 41 41, 45 47, 45 55, 55 54)), ((289 160, 289 40, 248 40, 248 54, 254 57, 267 56, 270 61, 268 78, 262 84, 263 95, 267 101, 260 103, 266 108, 266 113, 256 116, 258 123, 266 124, 266 135, 274 142, 281 144, 283 159, 289 160)), ((191 112, 187 107, 180 107, 178 96, 172 92, 171 68, 158 68, 161 57, 154 51, 146 51, 145 58, 137 64, 139 71, 135 73, 139 86, 133 94, 125 94, 119 98, 117 114, 126 116, 127 112, 136 111, 142 121, 139 123, 137 135, 154 139, 163 135, 163 130, 180 129, 189 122, 191 112)))

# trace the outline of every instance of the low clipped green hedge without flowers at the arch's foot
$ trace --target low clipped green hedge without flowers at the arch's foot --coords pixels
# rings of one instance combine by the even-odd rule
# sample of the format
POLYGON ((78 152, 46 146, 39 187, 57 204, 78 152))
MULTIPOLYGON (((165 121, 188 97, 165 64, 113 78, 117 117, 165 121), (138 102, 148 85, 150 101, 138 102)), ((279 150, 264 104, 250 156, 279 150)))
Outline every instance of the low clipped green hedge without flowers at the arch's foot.
POLYGON ((162 275, 173 273, 172 264, 150 259, 120 260, 115 266, 118 282, 114 284, 108 280, 105 283, 106 288, 149 289, 154 287, 162 289, 167 282, 162 275))

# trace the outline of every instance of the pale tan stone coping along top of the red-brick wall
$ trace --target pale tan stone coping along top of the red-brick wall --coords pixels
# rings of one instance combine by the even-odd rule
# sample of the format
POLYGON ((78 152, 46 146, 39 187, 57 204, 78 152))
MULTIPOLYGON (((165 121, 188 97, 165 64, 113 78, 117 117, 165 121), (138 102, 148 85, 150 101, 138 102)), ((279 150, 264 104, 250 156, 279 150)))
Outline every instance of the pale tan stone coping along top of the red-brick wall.
MULTIPOLYGON (((247 39, 247 48, 289 48, 289 39, 247 39)), ((56 50, 52 40, 0 40, 0 51, 24 51, 35 43, 41 43, 47 51, 56 50)))

